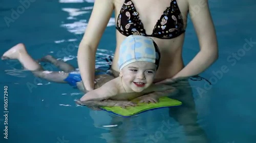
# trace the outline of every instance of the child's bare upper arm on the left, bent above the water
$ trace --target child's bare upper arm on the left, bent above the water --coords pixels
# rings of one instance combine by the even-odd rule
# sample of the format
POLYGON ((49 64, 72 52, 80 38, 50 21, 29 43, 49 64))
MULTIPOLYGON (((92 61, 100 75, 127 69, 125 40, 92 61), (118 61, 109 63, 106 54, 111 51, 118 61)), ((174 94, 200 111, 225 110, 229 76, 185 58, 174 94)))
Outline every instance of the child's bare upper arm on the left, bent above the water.
POLYGON ((103 99, 109 99, 117 95, 119 89, 117 88, 115 81, 111 80, 103 84, 100 88, 88 92, 87 94, 81 97, 81 101, 100 101, 103 99))

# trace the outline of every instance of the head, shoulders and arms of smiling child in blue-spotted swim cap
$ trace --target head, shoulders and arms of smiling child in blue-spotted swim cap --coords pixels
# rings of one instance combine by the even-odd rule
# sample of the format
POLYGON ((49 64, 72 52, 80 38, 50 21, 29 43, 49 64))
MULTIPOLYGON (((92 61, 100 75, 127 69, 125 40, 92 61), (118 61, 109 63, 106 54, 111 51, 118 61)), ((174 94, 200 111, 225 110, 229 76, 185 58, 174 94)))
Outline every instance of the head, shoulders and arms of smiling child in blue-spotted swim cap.
MULTIPOLYGON (((134 106, 136 104, 129 100, 151 92, 175 90, 169 85, 153 83, 159 66, 160 52, 151 38, 131 35, 122 42, 119 52, 119 77, 85 94, 77 101, 78 104, 134 106)), ((159 97, 151 98, 156 101, 159 97)))

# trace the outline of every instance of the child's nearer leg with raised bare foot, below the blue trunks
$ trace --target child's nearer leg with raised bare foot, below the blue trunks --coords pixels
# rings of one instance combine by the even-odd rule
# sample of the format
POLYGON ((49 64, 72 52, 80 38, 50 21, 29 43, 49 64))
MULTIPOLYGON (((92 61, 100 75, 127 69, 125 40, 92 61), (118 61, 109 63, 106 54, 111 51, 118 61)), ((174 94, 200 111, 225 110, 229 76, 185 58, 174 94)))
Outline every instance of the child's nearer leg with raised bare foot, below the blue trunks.
POLYGON ((63 79, 67 78, 68 73, 64 72, 49 72, 44 71, 40 64, 38 64, 32 57, 28 54, 24 44, 17 44, 11 49, 6 51, 2 60, 15 59, 18 60, 25 69, 30 70, 35 76, 40 78, 45 78, 50 81, 65 83, 63 79))

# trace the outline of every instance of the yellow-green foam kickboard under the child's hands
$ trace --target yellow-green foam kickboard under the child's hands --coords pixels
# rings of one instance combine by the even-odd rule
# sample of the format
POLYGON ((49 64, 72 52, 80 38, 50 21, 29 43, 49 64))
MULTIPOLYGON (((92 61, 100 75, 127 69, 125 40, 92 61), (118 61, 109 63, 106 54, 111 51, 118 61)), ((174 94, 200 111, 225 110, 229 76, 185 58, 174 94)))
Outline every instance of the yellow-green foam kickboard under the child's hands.
POLYGON ((126 108, 122 108, 119 106, 114 106, 114 107, 104 107, 102 106, 101 108, 113 112, 117 115, 124 116, 124 117, 129 117, 136 115, 138 113, 151 110, 151 109, 157 109, 157 108, 162 108, 162 107, 172 107, 172 106, 180 106, 182 103, 178 100, 175 99, 170 99, 168 97, 161 97, 159 98, 158 103, 138 103, 138 101, 133 102, 137 103, 137 106, 129 106, 126 108))

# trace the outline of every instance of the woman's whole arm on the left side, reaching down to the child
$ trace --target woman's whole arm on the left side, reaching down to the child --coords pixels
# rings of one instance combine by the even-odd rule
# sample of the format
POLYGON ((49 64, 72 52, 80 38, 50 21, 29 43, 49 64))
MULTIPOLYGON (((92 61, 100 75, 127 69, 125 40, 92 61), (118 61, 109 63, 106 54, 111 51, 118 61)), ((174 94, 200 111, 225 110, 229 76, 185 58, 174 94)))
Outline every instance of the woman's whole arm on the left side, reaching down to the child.
POLYGON ((96 49, 113 13, 113 1, 114 0, 95 0, 86 32, 79 44, 77 62, 84 88, 87 91, 94 89, 96 49))

